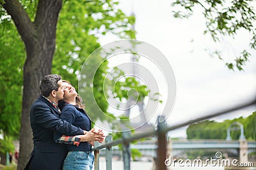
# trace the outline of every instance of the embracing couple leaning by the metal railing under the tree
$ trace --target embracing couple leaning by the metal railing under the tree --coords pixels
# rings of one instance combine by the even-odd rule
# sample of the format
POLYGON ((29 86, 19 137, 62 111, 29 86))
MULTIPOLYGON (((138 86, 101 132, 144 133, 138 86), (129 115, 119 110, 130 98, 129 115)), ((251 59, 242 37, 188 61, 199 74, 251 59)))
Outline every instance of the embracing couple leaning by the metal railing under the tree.
POLYGON ((44 76, 39 86, 41 96, 30 111, 34 148, 25 169, 92 169, 93 141, 102 142, 104 134, 91 129, 76 89, 56 74, 44 76))

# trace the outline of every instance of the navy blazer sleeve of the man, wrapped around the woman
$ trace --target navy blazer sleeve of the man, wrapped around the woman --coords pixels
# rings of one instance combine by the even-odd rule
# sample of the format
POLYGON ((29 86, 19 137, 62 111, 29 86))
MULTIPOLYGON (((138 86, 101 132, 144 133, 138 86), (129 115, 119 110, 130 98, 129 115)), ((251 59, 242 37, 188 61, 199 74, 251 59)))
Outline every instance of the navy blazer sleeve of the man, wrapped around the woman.
POLYGON ((36 124, 39 124, 47 129, 51 129, 51 131, 56 131, 67 136, 84 134, 83 129, 53 115, 49 106, 46 104, 34 106, 31 108, 31 113, 33 113, 36 124))

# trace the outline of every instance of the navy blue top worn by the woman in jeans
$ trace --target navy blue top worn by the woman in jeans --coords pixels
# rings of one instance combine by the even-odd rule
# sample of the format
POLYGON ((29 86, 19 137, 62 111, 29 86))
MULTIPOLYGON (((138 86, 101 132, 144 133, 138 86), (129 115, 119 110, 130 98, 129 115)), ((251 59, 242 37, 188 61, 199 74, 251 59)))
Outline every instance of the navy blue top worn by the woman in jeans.
MULTIPOLYGON (((72 104, 65 103, 62 110, 60 118, 62 120, 66 120, 67 122, 70 122, 72 125, 76 127, 80 127, 81 129, 85 131, 91 130, 91 120, 86 114, 86 112, 78 108, 72 104)), ((54 140, 60 138, 62 134, 55 133, 54 134, 54 140)), ((88 142, 80 142, 79 146, 76 145, 67 145, 68 151, 90 151, 92 150, 92 145, 90 145, 88 142)))

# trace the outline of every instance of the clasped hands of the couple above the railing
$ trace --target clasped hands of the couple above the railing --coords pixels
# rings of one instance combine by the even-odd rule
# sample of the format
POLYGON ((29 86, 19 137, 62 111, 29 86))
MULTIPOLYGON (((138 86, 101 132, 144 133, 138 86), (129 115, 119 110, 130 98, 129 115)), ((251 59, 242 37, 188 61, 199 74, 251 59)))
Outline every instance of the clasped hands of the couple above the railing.
POLYGON ((104 141, 104 137, 104 132, 102 132, 102 130, 95 131, 94 127, 88 132, 84 131, 84 135, 79 135, 80 142, 86 141, 91 145, 93 145, 94 141, 99 141, 99 143, 102 143, 104 141))

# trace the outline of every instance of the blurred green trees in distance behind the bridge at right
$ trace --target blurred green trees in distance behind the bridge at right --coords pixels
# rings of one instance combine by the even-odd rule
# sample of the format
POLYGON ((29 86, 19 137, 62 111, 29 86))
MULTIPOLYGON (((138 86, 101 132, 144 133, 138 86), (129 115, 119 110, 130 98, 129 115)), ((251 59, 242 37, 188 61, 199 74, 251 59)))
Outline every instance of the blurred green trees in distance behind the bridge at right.
MULTIPOLYGON (((243 124, 246 139, 256 141, 256 112, 246 118, 239 117, 233 120, 224 120, 223 122, 205 120, 191 124, 187 129, 188 139, 225 139, 227 138, 227 129, 232 122, 243 124)), ((240 131, 231 131, 230 136, 232 139, 239 139, 240 131)))

